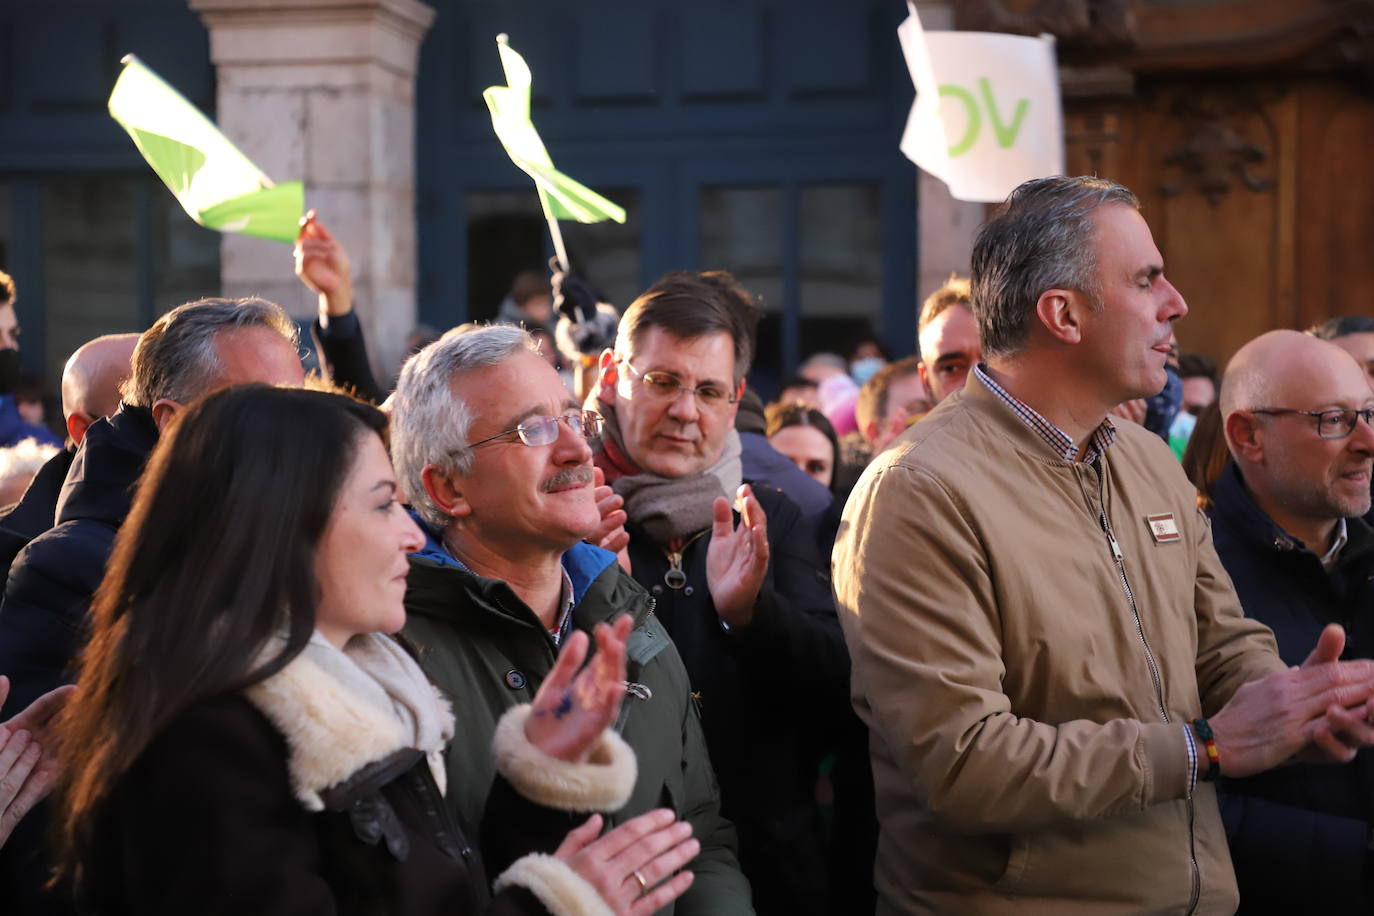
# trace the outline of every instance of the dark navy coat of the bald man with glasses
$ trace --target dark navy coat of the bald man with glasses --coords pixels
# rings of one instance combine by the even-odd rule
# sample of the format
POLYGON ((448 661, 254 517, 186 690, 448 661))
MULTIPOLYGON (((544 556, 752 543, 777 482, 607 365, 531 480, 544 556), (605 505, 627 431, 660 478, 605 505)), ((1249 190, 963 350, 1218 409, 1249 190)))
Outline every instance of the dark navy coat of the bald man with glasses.
MULTIPOLYGON (((1301 665, 1327 623, 1345 626, 1342 658, 1374 658, 1374 530, 1347 519, 1327 573, 1254 504, 1235 464, 1216 485, 1216 551, 1246 617, 1268 625, 1301 665)), ((1241 913, 1369 913, 1374 879, 1374 750, 1344 766, 1290 765, 1219 787, 1241 913)))

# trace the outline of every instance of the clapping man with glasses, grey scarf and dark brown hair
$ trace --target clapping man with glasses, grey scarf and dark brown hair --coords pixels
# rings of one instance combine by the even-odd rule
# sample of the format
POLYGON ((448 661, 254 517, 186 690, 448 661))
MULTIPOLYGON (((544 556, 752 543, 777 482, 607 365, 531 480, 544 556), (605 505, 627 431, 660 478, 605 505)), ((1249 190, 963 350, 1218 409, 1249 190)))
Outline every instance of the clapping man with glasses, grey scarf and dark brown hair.
MULTIPOLYGON (((871 849, 845 843, 857 875, 830 889, 842 882, 815 803, 820 758, 845 728, 864 735, 829 563, 796 503, 742 479, 735 412, 758 317, 723 272, 668 273, 635 299, 588 402, 606 417, 596 466, 625 501, 632 575, 691 676, 754 906, 820 913, 835 890, 838 912, 861 912, 871 849)), ((842 802, 837 832, 861 809, 842 802)))

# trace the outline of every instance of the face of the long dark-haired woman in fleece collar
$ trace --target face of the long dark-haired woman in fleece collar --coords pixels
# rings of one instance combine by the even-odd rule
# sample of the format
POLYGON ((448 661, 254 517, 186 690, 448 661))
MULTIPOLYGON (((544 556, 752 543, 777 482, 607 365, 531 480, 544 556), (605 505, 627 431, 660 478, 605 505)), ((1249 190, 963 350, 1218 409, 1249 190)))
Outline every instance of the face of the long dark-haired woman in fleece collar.
POLYGON ((320 604, 315 628, 342 648, 359 633, 394 633, 405 623, 407 553, 425 545, 397 500, 382 439, 364 433, 334 514, 315 552, 320 604))

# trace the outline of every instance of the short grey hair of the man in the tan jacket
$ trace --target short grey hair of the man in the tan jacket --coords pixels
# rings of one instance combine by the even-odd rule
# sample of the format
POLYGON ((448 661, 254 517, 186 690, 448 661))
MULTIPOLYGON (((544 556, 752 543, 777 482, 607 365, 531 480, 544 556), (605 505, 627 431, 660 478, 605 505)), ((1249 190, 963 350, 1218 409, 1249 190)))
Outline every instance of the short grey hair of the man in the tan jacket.
POLYGON ((1129 188, 1107 179, 1035 179, 978 231, 971 286, 984 354, 1009 356, 1025 346, 1046 290, 1077 290, 1102 308, 1092 213, 1107 203, 1140 209, 1129 188))

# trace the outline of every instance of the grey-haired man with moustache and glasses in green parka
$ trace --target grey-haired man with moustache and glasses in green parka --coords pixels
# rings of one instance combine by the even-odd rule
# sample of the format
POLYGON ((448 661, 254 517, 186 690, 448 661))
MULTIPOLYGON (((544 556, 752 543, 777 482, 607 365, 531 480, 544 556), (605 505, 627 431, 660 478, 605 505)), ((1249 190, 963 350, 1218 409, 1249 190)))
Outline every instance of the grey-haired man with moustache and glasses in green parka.
MULTIPOLYGON (((602 417, 577 405, 521 328, 455 328, 401 369, 392 455, 427 541, 411 556, 404 636, 462 722, 448 746, 447 803, 478 824, 495 776, 484 748, 502 714, 533 698, 569 633, 629 614, 616 729, 638 758, 635 791, 620 810, 588 794, 583 810, 614 825, 673 809, 701 853, 692 886, 666 912, 753 913, 682 658, 653 599, 611 551, 584 541, 605 541, 622 520, 592 467, 600 433, 602 417)), ((491 873, 511 851, 484 850, 491 873)), ((665 878, 635 876, 640 890, 665 878)))

